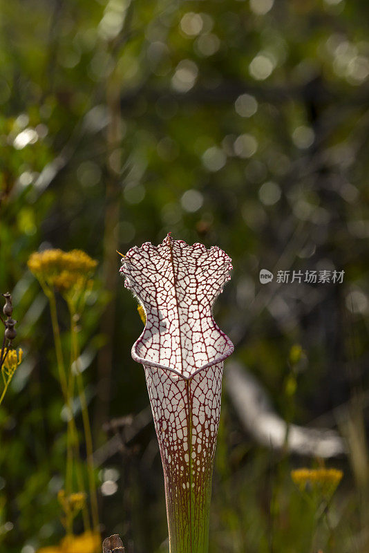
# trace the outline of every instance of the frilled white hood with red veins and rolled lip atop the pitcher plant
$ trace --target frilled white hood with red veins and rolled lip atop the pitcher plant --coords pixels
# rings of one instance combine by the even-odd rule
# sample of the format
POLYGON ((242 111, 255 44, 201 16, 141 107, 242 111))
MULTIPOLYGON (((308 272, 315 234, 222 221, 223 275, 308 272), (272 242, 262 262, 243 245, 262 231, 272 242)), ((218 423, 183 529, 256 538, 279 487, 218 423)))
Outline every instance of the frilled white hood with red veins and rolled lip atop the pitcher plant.
POLYGON ((211 313, 232 269, 223 250, 189 246, 168 234, 158 246, 131 248, 122 261, 124 284, 146 313, 132 348, 135 361, 189 379, 231 355, 234 346, 211 313))

